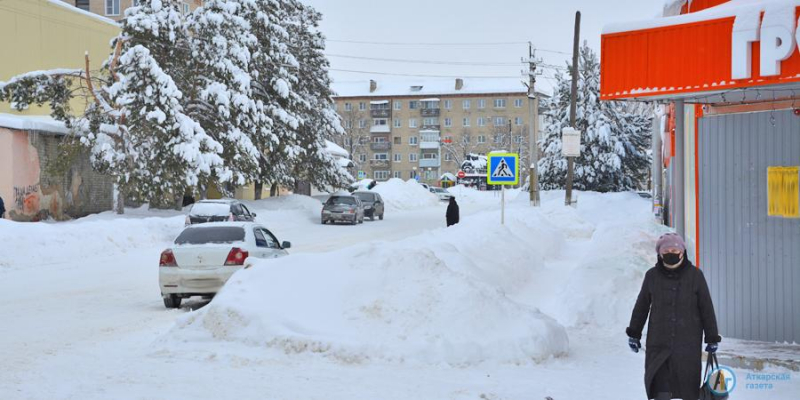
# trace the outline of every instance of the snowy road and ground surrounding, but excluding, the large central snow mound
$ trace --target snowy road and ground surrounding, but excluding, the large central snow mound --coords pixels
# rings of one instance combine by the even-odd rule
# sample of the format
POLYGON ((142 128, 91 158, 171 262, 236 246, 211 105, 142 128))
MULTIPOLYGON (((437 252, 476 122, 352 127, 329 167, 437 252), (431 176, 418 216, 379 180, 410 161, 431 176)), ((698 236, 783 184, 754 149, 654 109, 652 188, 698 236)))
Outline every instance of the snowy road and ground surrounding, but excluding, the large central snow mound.
MULTIPOLYGON (((647 268, 629 265, 651 251, 649 240, 658 228, 634 225, 641 224, 636 218, 646 218, 646 202, 620 199, 587 198, 572 212, 556 206, 561 200, 552 195, 540 215, 530 216, 522 203, 512 204, 507 217, 514 229, 547 226, 541 243, 531 243, 540 255, 531 260, 537 265, 533 272, 491 265, 492 259, 503 259, 500 253, 472 257, 486 271, 500 271, 484 278, 505 296, 539 308, 567 328, 568 354, 519 365, 490 359, 463 366, 379 358, 343 362, 231 341, 172 343, 176 320, 205 305, 192 301, 166 310, 159 297, 155 260, 180 232, 180 215, 135 211, 122 219, 104 214, 63 224, 3 222, 0 399, 642 398, 643 355, 627 350, 621 321, 647 268), (528 226, 529 219, 539 222, 528 226), (548 242, 548 232, 559 239, 548 242), (600 260, 602 268, 587 263, 598 249, 607 257, 600 260)), ((286 198, 251 209, 280 240, 291 241, 297 255, 327 257, 358 244, 436 241, 444 227, 440 204, 387 211, 386 220, 360 226, 319 225, 315 207, 286 198)), ((495 220, 496 199, 462 196, 464 229, 470 221, 495 220)), ((481 246, 484 239, 475 237, 474 246, 481 246)), ((491 243, 487 253, 497 251, 491 243)), ((740 389, 736 398, 792 399, 799 390, 794 380, 768 393, 740 389)))

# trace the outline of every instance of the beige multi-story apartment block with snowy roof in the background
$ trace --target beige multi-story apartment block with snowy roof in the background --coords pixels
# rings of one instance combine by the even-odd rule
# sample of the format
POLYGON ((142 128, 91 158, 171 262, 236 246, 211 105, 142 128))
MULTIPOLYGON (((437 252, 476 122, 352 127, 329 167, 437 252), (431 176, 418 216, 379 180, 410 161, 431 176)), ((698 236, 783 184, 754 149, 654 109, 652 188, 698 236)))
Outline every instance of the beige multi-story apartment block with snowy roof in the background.
POLYGON ((336 83, 334 90, 347 131, 339 144, 361 178, 433 183, 457 173, 470 153, 527 158, 529 100, 518 79, 370 80, 336 83))

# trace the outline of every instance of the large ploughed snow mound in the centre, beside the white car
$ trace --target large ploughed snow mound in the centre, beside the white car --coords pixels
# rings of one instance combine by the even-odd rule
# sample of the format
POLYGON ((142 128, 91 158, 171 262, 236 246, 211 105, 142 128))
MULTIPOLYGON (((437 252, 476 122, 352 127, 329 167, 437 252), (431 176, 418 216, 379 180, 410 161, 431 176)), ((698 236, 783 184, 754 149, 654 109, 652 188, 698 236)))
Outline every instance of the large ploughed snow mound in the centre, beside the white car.
MULTIPOLYGON (((389 185, 385 185, 389 186, 389 185)), ((239 343, 352 363, 529 363, 568 350, 565 329, 511 300, 561 244, 541 218, 492 213, 399 242, 253 261, 163 341, 239 343), (475 244, 479 243, 479 246, 475 244)))

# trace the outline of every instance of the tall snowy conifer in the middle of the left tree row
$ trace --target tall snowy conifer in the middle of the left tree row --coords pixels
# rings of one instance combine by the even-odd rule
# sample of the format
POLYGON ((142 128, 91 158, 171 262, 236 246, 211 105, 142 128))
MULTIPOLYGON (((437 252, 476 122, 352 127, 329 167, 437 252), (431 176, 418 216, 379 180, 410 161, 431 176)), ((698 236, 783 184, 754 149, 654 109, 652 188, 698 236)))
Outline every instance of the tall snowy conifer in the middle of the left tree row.
POLYGON ((211 184, 230 193, 259 175, 255 143, 271 135, 264 105, 253 96, 250 49, 256 38, 242 17, 241 2, 207 0, 188 18, 191 67, 182 77, 186 114, 222 146, 224 170, 201 180, 201 195, 211 184))

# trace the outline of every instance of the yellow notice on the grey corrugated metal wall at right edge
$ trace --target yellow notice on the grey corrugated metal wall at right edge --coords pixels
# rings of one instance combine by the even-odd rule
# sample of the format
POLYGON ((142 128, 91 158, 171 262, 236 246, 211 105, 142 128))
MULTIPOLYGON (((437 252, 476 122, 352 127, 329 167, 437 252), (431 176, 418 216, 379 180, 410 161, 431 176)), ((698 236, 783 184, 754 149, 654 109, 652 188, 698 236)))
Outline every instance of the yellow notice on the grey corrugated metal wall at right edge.
POLYGON ((767 168, 767 203, 771 217, 800 218, 800 167, 767 168))

